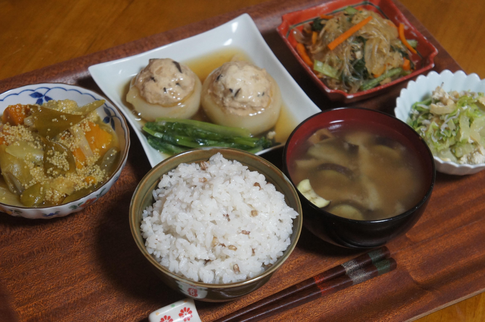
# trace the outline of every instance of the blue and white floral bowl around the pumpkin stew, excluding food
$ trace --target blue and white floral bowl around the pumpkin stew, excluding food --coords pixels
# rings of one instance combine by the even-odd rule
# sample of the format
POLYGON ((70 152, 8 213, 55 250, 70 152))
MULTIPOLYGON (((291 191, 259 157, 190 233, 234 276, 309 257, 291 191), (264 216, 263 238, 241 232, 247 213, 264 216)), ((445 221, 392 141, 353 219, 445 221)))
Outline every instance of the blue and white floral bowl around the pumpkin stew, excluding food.
POLYGON ((0 203, 0 211, 16 217, 25 217, 30 219, 49 219, 54 217, 62 217, 73 212, 80 211, 86 206, 93 204, 100 197, 102 197, 113 184, 118 180, 121 170, 125 167, 128 149, 129 149, 129 130, 125 117, 121 114, 119 109, 113 105, 106 98, 97 94, 96 92, 82 88, 79 86, 62 84, 62 83, 43 83, 27 85, 19 88, 10 89, 0 94, 0 114, 8 105, 14 104, 43 104, 49 100, 73 100, 79 106, 94 102, 97 100, 105 100, 106 102, 97 109, 97 113, 104 123, 111 125, 118 136, 120 145, 120 153, 122 159, 118 168, 113 175, 99 188, 90 194, 72 201, 67 204, 56 205, 51 207, 28 208, 13 205, 6 205, 0 203))

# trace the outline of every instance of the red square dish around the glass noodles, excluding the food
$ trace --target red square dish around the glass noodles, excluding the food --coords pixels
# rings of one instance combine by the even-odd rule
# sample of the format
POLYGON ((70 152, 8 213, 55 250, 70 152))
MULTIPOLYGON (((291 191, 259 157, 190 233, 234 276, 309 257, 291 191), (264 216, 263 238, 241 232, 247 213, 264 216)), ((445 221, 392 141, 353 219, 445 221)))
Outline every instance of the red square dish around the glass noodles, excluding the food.
POLYGON ((315 84, 320 87, 332 101, 340 102, 356 102, 363 100, 374 95, 378 95, 384 89, 394 86, 407 79, 413 78, 421 73, 424 73, 435 66, 433 59, 435 58, 438 50, 431 44, 414 26, 412 26, 401 11, 396 7, 392 0, 335 0, 322 3, 318 6, 311 7, 305 10, 295 11, 282 17, 283 22, 278 27, 278 33, 283 38, 283 41, 290 48, 293 55, 300 62, 303 68, 307 71, 315 84), (417 54, 410 55, 410 59, 415 63, 416 70, 400 77, 388 84, 380 85, 368 90, 358 91, 350 94, 340 89, 331 89, 327 87, 323 81, 313 72, 304 60, 300 57, 295 47, 297 44, 296 39, 291 32, 292 29, 303 29, 303 25, 312 21, 320 15, 333 15, 340 11, 343 11, 346 7, 352 6, 356 9, 366 9, 378 13, 384 18, 391 20, 396 26, 404 24, 404 35, 407 39, 416 39, 418 46, 416 47, 417 54), (420 68, 419 68, 420 67, 420 68))

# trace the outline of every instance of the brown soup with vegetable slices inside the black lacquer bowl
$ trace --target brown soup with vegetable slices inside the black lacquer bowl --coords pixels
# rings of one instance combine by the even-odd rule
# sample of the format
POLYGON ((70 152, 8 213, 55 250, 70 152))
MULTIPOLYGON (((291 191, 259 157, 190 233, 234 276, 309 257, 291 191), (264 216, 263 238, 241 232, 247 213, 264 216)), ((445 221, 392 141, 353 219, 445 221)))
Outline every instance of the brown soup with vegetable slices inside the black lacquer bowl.
POLYGON ((302 144, 289 167, 296 185, 309 179, 313 190, 331 201, 324 210, 356 220, 380 220, 403 213, 423 198, 427 187, 420 158, 395 132, 359 122, 345 122, 330 132, 336 138, 302 144))

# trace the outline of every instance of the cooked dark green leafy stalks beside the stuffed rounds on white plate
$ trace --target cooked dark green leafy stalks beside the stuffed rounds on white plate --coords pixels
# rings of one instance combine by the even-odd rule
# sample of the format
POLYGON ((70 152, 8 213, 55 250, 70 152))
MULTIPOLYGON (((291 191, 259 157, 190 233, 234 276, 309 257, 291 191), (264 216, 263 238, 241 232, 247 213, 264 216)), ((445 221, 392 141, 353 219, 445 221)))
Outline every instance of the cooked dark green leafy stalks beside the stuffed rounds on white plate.
POLYGON ((157 119, 156 122, 147 122, 143 130, 149 134, 148 143, 167 154, 202 146, 233 147, 257 152, 272 145, 264 137, 251 137, 245 129, 194 120, 157 119))

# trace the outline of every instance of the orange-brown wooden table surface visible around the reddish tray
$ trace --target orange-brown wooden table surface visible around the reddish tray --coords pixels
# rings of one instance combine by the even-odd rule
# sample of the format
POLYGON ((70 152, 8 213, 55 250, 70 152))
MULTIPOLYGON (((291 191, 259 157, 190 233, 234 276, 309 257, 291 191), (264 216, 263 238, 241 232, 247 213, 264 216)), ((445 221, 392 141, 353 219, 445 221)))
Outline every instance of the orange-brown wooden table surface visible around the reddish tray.
MULTIPOLYGON (((0 0, 0 80, 260 2, 264 1, 0 0)), ((401 2, 466 73, 485 78, 485 1, 401 2)), ((8 297, 2 285, 1 296, 8 297)), ((482 293, 418 321, 485 321, 484 308, 482 293)))

